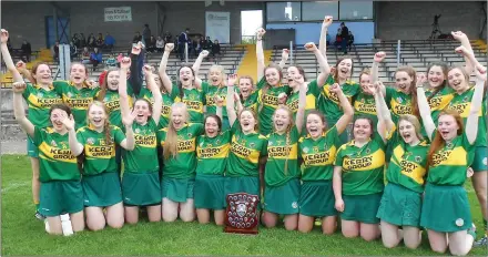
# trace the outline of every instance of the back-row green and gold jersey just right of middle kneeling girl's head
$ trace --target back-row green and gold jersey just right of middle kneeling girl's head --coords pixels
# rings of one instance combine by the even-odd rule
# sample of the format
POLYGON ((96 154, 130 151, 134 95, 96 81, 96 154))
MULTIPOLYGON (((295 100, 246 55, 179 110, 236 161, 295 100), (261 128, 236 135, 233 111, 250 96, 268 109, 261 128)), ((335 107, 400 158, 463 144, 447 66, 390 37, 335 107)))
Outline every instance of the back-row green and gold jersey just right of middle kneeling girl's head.
POLYGON ((256 89, 258 90, 257 99, 260 101, 257 114, 260 119, 260 133, 267 135, 273 131, 272 116, 278 107, 278 95, 281 93, 288 94, 289 86, 282 84, 271 86, 263 76, 257 83, 256 89))

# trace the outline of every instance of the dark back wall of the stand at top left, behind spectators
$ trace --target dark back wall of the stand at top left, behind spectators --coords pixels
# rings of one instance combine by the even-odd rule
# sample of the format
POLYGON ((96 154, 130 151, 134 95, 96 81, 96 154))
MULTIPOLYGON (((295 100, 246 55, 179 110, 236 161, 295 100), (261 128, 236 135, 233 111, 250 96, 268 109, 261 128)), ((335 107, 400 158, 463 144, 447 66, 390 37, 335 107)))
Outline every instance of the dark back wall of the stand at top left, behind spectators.
MULTIPOLYGON (((31 42, 33 49, 45 48, 45 22, 47 16, 53 16, 53 7, 49 2, 2 2, 1 24, 10 31, 13 48, 20 48, 22 40, 31 42)), ((114 35, 118 44, 130 43, 135 31, 142 33, 143 24, 149 23, 153 34, 157 33, 157 4, 155 2, 69 2, 58 1, 57 4, 67 10, 71 16, 71 34, 110 32, 114 35), (105 22, 103 9, 108 7, 131 7, 132 21, 105 22)), ((191 28, 192 33, 205 34, 205 11, 231 12, 231 42, 241 42, 241 11, 262 10, 264 2, 226 1, 220 6, 213 1, 205 8, 203 1, 170 1, 160 2, 165 10, 163 31, 170 31, 173 35, 181 33, 185 28, 191 28)), ((62 14, 60 14, 62 16, 62 14)))

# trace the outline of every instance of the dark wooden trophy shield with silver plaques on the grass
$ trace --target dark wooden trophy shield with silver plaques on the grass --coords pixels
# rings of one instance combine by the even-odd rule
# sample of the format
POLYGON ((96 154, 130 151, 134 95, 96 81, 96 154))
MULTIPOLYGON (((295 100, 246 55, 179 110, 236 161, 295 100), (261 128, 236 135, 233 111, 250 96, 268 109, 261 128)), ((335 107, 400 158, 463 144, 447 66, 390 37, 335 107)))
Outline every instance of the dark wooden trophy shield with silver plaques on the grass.
POLYGON ((247 193, 235 193, 228 194, 226 202, 224 232, 257 234, 260 197, 247 193))

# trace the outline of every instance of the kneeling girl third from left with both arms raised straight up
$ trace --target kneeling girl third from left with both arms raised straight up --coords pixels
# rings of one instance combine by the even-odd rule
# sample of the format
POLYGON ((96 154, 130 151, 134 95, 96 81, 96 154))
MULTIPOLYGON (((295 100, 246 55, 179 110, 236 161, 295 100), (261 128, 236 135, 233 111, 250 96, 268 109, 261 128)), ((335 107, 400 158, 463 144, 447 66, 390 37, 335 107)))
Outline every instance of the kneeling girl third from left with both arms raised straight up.
MULTIPOLYGON (((119 75, 119 95, 121 114, 130 116, 129 96, 126 89, 130 58, 123 58, 119 75)), ((139 220, 139 208, 148 208, 150 222, 161 220, 161 187, 157 162, 157 124, 161 119, 162 97, 157 89, 150 65, 143 66, 148 88, 154 96, 154 105, 144 99, 138 99, 132 110, 135 115, 132 131, 135 147, 123 153, 124 174, 122 177, 122 196, 125 206, 125 222, 135 224, 139 220)), ((125 131, 125 128, 123 128, 125 131)))

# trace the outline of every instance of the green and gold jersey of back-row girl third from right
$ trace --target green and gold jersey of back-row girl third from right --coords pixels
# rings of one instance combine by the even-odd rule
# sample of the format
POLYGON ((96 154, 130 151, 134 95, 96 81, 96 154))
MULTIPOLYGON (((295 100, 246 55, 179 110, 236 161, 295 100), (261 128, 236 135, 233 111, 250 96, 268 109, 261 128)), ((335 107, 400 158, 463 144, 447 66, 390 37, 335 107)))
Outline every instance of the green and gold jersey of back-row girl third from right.
POLYGON ((392 120, 398 124, 398 119, 404 114, 414 114, 411 110, 411 95, 401 92, 398 89, 386 88, 386 104, 392 112, 392 120))

